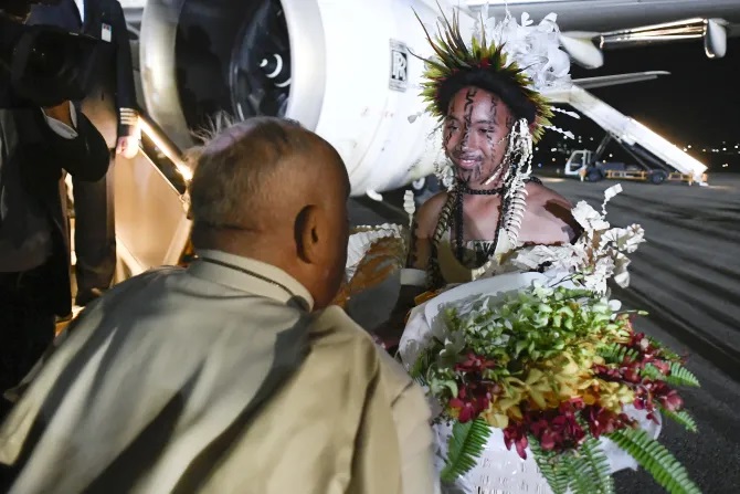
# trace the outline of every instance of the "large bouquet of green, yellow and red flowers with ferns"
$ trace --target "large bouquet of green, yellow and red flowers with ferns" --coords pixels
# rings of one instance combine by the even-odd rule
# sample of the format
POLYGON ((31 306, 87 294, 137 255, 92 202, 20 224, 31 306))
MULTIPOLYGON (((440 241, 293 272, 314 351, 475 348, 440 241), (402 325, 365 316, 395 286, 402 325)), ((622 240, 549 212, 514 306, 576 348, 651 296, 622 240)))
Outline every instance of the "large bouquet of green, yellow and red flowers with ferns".
MULTIPOLYGON (((620 190, 609 189, 606 201, 620 190)), ((412 375, 440 404, 437 420, 453 423, 442 480, 469 471, 497 428, 520 456, 529 446, 554 493, 614 492, 602 437, 668 492, 699 492, 630 414, 665 416, 696 431, 674 387, 698 380, 679 356, 635 329, 643 313, 620 311, 606 293, 607 277, 626 283, 625 253, 643 241, 642 229, 612 229, 585 202, 573 213, 584 233, 570 255, 539 250, 519 260, 568 264, 569 286, 536 282, 443 306, 441 329, 415 356, 412 375)))

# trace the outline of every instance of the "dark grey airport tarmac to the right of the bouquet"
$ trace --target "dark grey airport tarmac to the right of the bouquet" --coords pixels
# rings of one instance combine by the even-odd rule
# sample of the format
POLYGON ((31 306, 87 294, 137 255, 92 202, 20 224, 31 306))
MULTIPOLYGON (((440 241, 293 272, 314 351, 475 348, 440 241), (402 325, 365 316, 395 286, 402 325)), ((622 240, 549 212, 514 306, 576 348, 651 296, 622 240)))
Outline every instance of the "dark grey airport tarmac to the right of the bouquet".
MULTIPOLYGON (((585 200, 596 209, 604 189, 615 183, 542 181, 573 203, 585 200)), ((740 493, 740 176, 715 175, 710 187, 621 183, 624 190, 609 203, 607 220, 620 227, 642 224, 647 242, 631 257, 630 288, 614 296, 648 311, 638 329, 686 354, 687 367, 701 382, 701 388, 679 390, 699 432, 668 421, 660 442, 704 493, 740 493)), ((350 221, 405 222, 401 193, 385 199, 351 200, 350 221)), ((372 308, 376 317, 382 317, 378 313, 393 296, 387 294, 388 301, 372 308)), ((624 494, 664 492, 643 471, 620 472, 616 483, 624 494)))

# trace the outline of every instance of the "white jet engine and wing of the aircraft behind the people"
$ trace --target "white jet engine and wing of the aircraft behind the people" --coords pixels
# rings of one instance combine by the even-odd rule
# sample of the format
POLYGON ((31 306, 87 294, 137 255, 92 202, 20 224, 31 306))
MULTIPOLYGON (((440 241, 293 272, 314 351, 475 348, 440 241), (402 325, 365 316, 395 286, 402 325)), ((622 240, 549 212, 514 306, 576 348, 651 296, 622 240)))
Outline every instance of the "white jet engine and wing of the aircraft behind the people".
MULTIPOLYGON (((441 3, 467 12, 462 18, 471 29, 485 2, 441 3)), ((488 11, 500 18, 506 8, 503 1, 489 2, 488 11)), ((602 48, 687 38, 704 38, 708 53, 722 55, 723 34, 740 20, 740 2, 729 0, 510 0, 508 9, 517 17, 526 11, 535 22, 556 12, 567 51, 586 66, 603 63, 602 48), (669 21, 679 23, 635 30, 669 21)), ((412 53, 427 56, 430 49, 414 10, 434 32, 435 0, 149 0, 139 45, 146 108, 178 146, 187 147, 192 144, 190 102, 176 87, 197 87, 195 99, 202 101, 225 81, 231 90, 220 107, 239 117, 269 113, 250 108, 250 99, 284 90, 272 113, 299 120, 339 150, 353 196, 397 189, 429 176, 441 159, 436 122, 420 115, 423 62, 412 53), (272 40, 264 31, 283 21, 269 15, 284 17, 287 28, 272 40), (187 44, 189 33, 195 30, 210 44, 203 51, 218 59, 208 70, 203 56, 188 54, 195 43, 187 44), (263 49, 267 42, 276 46, 274 53, 263 49), (258 63, 269 64, 263 82, 273 75, 283 86, 255 87, 258 63), (178 86, 183 76, 188 83, 178 86)))

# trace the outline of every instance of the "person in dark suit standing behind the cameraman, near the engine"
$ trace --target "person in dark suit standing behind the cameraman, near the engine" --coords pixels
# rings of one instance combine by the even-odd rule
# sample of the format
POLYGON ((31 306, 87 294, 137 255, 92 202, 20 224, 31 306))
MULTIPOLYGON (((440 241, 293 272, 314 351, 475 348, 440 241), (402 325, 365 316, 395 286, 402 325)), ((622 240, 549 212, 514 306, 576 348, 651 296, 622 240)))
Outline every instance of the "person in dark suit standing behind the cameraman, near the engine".
MULTIPOLYGON (((107 42, 96 71, 99 78, 82 102, 82 112, 105 137, 112 159, 116 154, 136 156, 136 88, 126 20, 118 1, 61 0, 55 6, 34 6, 28 23, 56 25, 107 42)), ((99 296, 115 272, 112 172, 113 167, 107 177, 96 182, 73 179, 77 305, 99 296)))

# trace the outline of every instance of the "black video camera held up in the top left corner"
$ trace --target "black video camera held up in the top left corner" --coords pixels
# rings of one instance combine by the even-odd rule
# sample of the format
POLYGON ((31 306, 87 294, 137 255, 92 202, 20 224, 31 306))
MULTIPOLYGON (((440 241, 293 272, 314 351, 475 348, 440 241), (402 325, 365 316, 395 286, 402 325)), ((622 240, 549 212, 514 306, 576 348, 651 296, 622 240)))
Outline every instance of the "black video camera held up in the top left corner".
POLYGON ((33 4, 59 1, 0 0, 0 108, 55 106, 88 93, 103 42, 23 23, 33 4))

